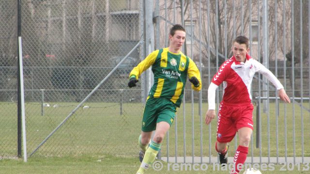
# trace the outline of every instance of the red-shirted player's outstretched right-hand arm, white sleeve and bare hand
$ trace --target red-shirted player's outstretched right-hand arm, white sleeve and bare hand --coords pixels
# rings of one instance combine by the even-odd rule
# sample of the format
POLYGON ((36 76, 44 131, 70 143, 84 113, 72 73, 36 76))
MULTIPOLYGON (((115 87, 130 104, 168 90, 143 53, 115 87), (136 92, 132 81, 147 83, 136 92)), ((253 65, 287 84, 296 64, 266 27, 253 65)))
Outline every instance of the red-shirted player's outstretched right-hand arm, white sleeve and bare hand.
POLYGON ((264 67, 260 62, 257 62, 257 67, 257 72, 262 73, 263 76, 265 76, 275 87, 277 87, 279 98, 285 103, 290 103, 291 100, 286 94, 284 87, 282 86, 278 78, 270 70, 264 67))

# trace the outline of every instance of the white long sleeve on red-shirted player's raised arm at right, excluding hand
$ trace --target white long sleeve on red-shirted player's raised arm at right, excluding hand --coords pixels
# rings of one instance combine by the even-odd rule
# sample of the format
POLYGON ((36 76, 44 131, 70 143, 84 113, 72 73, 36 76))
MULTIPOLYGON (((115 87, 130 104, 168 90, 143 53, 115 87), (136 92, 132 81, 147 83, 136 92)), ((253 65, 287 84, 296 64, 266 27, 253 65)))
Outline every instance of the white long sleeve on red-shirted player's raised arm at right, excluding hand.
POLYGON ((277 87, 278 90, 284 88, 278 78, 270 70, 268 70, 257 60, 254 61, 256 72, 263 74, 263 76, 265 76, 275 87, 277 87))

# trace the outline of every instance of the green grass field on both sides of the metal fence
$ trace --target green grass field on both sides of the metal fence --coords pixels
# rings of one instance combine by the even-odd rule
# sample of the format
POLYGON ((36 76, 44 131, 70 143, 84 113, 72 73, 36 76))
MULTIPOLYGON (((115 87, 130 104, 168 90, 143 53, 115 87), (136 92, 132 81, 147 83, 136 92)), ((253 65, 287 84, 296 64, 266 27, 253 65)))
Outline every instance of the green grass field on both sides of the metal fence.
MULTIPOLYGON (((44 108, 44 116, 41 115, 41 105, 38 103, 26 104, 26 129, 27 129, 27 153, 39 145, 47 135, 53 131, 60 122, 75 108, 78 103, 49 103, 50 107, 44 108), (52 107, 57 104, 57 107, 52 107)), ((305 107, 309 107, 309 103, 304 103, 305 107)), ((124 103, 122 105, 122 115, 120 115, 119 103, 85 103, 90 106, 88 109, 78 109, 78 111, 68 119, 68 121, 55 134, 42 145, 39 150, 28 159, 27 163, 22 160, 0 160, 0 173, 25 173, 25 174, 129 174, 135 173, 139 168, 138 160, 138 136, 140 134, 141 115, 143 105, 141 103, 124 103), (13 171, 13 172, 10 172, 13 171)), ((0 104, 1 111, 5 114, 1 117, 1 156, 16 157, 16 105, 0 104)), ((183 113, 183 104, 178 109, 176 121, 173 123, 169 131, 169 156, 174 157, 175 154, 175 128, 177 127, 177 156, 184 156, 184 142, 186 148, 186 156, 201 155, 202 136, 202 156, 209 157, 209 136, 211 136, 211 156, 216 156, 214 150, 214 142, 216 140, 216 124, 217 120, 213 120, 211 124, 211 132, 209 126, 202 124, 198 116, 198 104, 194 104, 194 117, 192 118, 191 104, 186 103, 185 114, 183 113), (185 116, 185 117, 184 117, 185 116), (192 119, 194 123, 192 123, 192 119), (184 124, 184 122, 186 124, 184 124), (176 126, 177 125, 177 126, 176 126), (194 134, 192 133, 194 129, 194 134), (184 131, 186 138, 184 139, 184 131), (184 141, 185 140, 185 141, 184 141), (194 144, 192 144, 194 141, 194 144)), ((207 104, 203 104, 202 121, 207 109, 207 104)), ((256 107, 255 107, 256 109, 256 107)), ((256 120, 256 110, 253 112, 254 122, 256 120)), ((295 105, 293 125, 293 109, 292 104, 286 106, 286 142, 285 149, 285 125, 284 125, 284 104, 280 103, 278 117, 278 146, 279 157, 284 157, 285 152, 288 157, 294 156, 293 145, 295 143, 295 156, 302 155, 302 136, 301 122, 303 121, 304 133, 304 153, 305 157, 310 156, 310 150, 307 148, 310 144, 310 115, 303 111, 303 120, 301 120, 299 106, 295 105), (295 142, 293 139, 293 128, 295 130, 295 142), (308 138, 307 138, 308 137, 308 138)), ((250 147, 249 155, 253 151, 253 156, 258 157, 262 153, 263 157, 267 157, 268 151, 270 156, 277 155, 276 149, 276 116, 275 104, 270 103, 269 111, 269 131, 267 124, 267 114, 262 117, 262 149, 255 148, 256 130, 253 133, 254 148, 250 147), (270 138, 268 139, 268 134, 270 138), (270 142, 270 148, 268 147, 270 142)), ((234 141, 231 143, 229 156, 234 154, 234 141)), ((162 157, 167 156, 167 139, 162 144, 162 157)), ((164 163, 165 164, 165 163, 164 163)), ((275 171, 265 171, 263 174, 271 173, 290 173, 289 171, 279 171, 282 166, 277 166, 275 171)), ((309 171, 308 171, 309 172, 309 171)), ((308 173, 304 172, 304 173, 308 173)), ((161 173, 205 173, 198 171, 173 172, 168 171, 167 165, 158 172, 150 169, 150 174, 161 173)), ((209 171, 208 173, 220 174, 224 171, 209 171)), ((226 172, 228 173, 228 172, 226 172)), ((294 171, 294 173, 298 173, 294 171)), ((303 172, 300 172, 303 173, 303 172)))

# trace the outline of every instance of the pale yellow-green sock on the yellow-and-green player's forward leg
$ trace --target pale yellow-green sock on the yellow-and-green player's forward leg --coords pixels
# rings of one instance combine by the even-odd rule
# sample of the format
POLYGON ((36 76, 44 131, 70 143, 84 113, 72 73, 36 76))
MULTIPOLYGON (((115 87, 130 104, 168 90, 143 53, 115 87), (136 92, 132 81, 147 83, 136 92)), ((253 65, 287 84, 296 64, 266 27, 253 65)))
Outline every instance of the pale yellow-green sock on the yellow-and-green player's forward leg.
POLYGON ((144 174, 144 172, 149 168, 149 166, 155 161, 161 144, 157 144, 152 141, 150 148, 145 151, 143 161, 137 174, 144 174))

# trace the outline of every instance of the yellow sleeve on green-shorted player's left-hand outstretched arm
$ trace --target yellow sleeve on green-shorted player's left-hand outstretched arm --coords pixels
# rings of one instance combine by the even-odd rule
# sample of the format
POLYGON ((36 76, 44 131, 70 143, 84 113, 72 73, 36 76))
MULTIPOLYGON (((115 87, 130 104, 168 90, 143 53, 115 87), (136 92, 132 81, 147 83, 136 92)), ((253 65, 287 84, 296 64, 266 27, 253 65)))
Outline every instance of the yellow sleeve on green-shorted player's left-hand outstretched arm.
POLYGON ((138 80, 141 73, 143 73, 151 65, 154 64, 154 62, 157 58, 158 52, 159 52, 159 50, 153 51, 144 60, 142 60, 135 68, 133 68, 129 74, 129 78, 136 77, 136 79, 138 80))

